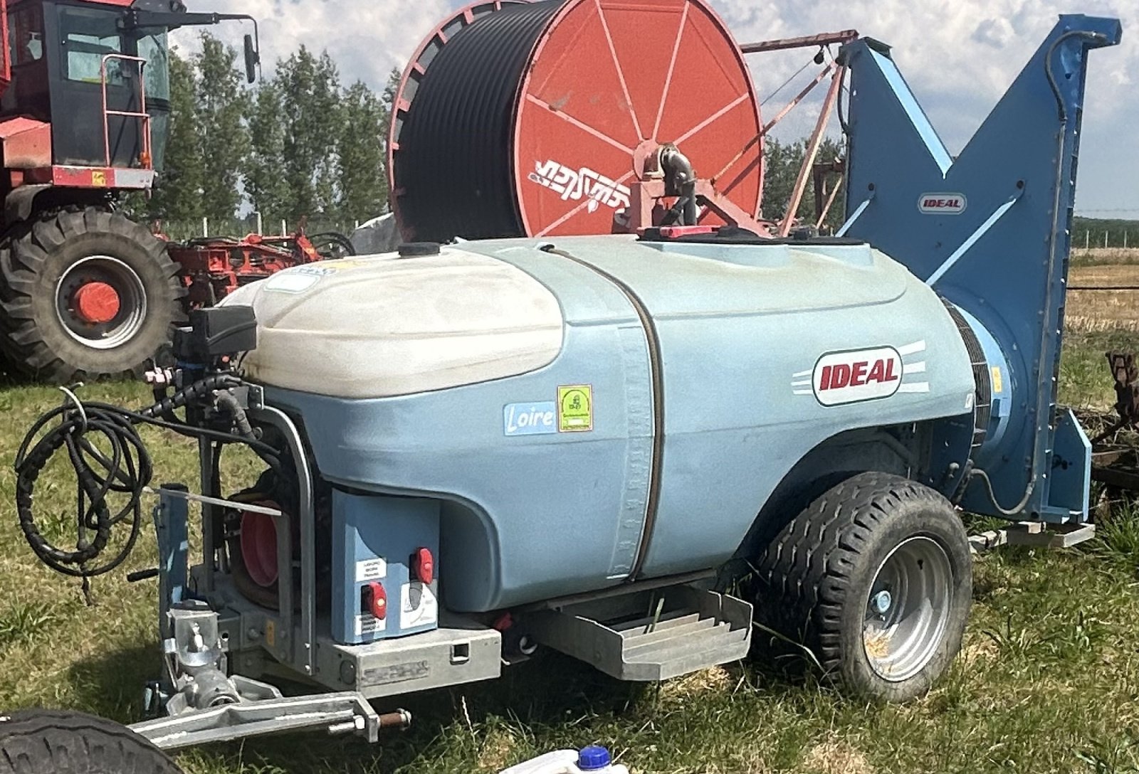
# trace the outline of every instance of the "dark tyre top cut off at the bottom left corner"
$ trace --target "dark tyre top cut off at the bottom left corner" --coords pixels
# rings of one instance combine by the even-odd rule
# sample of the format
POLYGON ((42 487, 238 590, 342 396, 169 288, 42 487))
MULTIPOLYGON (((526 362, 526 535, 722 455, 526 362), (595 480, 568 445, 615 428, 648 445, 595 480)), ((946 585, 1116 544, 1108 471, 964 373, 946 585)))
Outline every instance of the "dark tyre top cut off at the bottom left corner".
POLYGON ((0 774, 181 774, 130 728, 80 713, 0 718, 0 774))

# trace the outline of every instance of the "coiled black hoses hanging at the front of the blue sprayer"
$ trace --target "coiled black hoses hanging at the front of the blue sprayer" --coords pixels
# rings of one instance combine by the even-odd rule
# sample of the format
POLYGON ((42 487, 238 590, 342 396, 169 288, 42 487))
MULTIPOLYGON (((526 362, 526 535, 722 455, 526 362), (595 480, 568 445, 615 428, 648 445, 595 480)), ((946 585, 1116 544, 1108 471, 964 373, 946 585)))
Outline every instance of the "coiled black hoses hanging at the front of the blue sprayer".
MULTIPOLYGON (((223 444, 246 444, 270 463, 277 461, 279 464, 279 452, 252 436, 248 420, 239 423, 241 436, 170 421, 175 409, 240 384, 236 376, 210 377, 141 412, 106 403, 85 403, 68 392, 66 403, 40 417, 24 436, 15 462, 19 526, 40 561, 63 575, 90 578, 109 573, 130 555, 141 530, 142 495, 154 476, 150 454, 138 433, 139 425, 153 425, 183 436, 205 437, 223 444), (46 429, 52 422, 57 423, 46 429), (245 436, 246 430, 251 435, 245 436), (66 451, 75 471, 74 550, 54 545, 42 534, 34 513, 36 481, 60 450, 66 451), (116 494, 123 495, 125 502, 113 510, 107 501, 116 494), (110 559, 97 561, 110 543, 115 527, 124 524, 129 525, 129 533, 123 544, 110 559)), ((228 393, 220 394, 232 397, 228 393)))

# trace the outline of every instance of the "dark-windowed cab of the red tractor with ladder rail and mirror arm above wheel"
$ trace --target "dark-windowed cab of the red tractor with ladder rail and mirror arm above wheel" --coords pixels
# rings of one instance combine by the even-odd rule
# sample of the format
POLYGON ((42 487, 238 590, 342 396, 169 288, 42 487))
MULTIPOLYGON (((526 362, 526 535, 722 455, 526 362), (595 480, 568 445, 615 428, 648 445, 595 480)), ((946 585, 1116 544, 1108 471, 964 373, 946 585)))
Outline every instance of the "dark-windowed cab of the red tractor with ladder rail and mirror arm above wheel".
MULTIPOLYGON (((9 2, 11 83, 0 117, 46 124, 39 145, 46 150, 50 133, 51 166, 138 170, 106 184, 149 187, 162 168, 170 121, 167 31, 228 18, 248 17, 188 14, 178 0, 9 2)), ((256 47, 246 50, 252 73, 256 47)), ((6 158, 5 166, 16 165, 6 158)), ((98 175, 93 183, 99 187, 98 175)))

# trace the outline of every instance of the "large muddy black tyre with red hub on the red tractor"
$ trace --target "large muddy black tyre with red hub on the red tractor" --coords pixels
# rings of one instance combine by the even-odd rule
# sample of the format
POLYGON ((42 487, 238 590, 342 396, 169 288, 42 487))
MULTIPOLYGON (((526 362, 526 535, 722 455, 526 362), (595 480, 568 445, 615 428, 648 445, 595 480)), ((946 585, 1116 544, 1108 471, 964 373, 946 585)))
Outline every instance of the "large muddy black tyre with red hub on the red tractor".
POLYGON ((10 232, 0 273, 6 360, 31 377, 139 373, 185 319, 165 244, 117 213, 55 212, 10 232))

